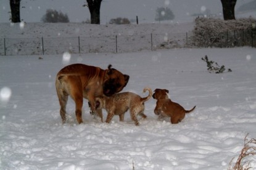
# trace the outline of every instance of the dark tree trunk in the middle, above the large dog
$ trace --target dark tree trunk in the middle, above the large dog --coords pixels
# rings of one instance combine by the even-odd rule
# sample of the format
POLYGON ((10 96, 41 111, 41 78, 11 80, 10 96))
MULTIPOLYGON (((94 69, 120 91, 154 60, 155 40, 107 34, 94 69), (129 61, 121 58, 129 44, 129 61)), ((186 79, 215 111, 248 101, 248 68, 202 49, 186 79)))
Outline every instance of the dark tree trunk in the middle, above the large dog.
POLYGON ((102 0, 86 0, 91 14, 91 24, 100 24, 100 10, 102 0))

